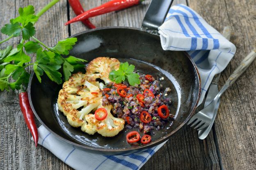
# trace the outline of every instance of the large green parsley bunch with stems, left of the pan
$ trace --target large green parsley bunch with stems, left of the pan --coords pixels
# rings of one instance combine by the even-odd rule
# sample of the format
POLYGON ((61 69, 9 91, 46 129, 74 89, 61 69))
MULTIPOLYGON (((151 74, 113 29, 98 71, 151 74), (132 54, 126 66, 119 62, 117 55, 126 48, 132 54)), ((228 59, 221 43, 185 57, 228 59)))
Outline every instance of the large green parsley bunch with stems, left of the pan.
POLYGON ((63 69, 64 80, 68 80, 71 72, 75 68, 84 67, 83 62, 86 60, 68 56, 69 50, 77 41, 77 38, 66 38, 57 42, 54 47, 47 47, 43 42, 34 37, 36 32, 34 23, 39 17, 52 7, 59 0, 53 0, 44 7, 37 15, 35 15, 34 7, 27 7, 18 10, 19 16, 10 20, 9 24, 2 27, 2 34, 9 37, 5 42, 12 37, 22 35, 21 42, 16 48, 8 46, 6 49, 0 50, 0 90, 4 89, 20 89, 27 86, 30 74, 26 67, 32 65, 37 79, 41 83, 41 76, 46 74, 50 80, 57 84, 62 83, 62 74, 60 68, 63 69), (36 60, 31 62, 30 54, 36 55, 36 60), (68 56, 64 58, 63 56, 68 56), (11 81, 11 78, 14 80, 11 81))

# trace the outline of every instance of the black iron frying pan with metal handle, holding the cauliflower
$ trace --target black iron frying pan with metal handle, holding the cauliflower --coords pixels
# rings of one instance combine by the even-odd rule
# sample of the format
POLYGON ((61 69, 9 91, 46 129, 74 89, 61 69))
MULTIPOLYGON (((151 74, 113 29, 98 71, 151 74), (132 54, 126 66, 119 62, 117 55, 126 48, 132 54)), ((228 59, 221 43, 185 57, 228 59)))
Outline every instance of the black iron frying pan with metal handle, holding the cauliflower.
POLYGON ((42 83, 39 83, 32 73, 28 86, 29 100, 42 125, 62 141, 99 154, 129 154, 145 150, 166 141, 179 130, 190 119, 197 106, 200 78, 195 63, 185 51, 164 51, 160 45, 160 37, 148 32, 149 28, 161 25, 170 5, 171 0, 153 0, 143 21, 144 29, 106 27, 76 34, 73 37, 78 38, 78 42, 70 55, 88 61, 99 56, 110 56, 121 62, 128 61, 142 73, 151 74, 155 78, 164 77, 165 80, 161 83, 164 87, 171 88, 169 97, 172 98, 173 106, 170 110, 175 114, 175 121, 168 123, 164 129, 154 131, 155 134, 151 135, 152 142, 148 145, 126 143, 126 134, 137 128, 125 128, 112 138, 86 134, 80 128, 71 127, 66 117, 58 111, 57 96, 62 86, 50 81, 45 75, 42 83))

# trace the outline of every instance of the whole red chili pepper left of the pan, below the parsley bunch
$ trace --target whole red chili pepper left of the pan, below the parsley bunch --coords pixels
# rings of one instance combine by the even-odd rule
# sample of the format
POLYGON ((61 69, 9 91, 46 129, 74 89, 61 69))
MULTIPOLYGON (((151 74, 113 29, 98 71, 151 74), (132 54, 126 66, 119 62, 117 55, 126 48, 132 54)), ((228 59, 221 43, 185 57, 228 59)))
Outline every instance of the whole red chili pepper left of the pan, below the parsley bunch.
POLYGON ((36 125, 36 122, 34 119, 34 113, 31 109, 30 103, 28 101, 27 92, 21 92, 19 94, 19 99, 20 99, 21 112, 23 114, 23 117, 25 119, 28 129, 30 130, 30 133, 32 134, 34 143, 37 146, 37 142, 38 142, 37 125, 36 125))

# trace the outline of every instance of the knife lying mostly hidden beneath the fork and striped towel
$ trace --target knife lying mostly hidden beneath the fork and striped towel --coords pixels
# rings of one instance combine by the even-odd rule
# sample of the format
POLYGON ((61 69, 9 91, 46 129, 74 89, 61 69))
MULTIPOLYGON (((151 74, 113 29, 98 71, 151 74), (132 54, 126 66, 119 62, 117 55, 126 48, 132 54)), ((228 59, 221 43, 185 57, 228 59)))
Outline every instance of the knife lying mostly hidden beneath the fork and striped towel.
MULTIPOLYGON (((230 39, 230 35, 231 35, 231 27, 224 27, 222 35, 227 40, 229 40, 230 39)), ((210 84, 210 87, 208 89, 208 94, 206 96, 206 101, 205 101, 203 107, 206 107, 207 105, 209 105, 210 102, 213 101, 213 98, 218 94, 218 92, 219 92, 219 90, 218 90, 218 82, 219 82, 220 75, 221 75, 221 73, 216 74, 213 77, 213 81, 210 84)), ((220 99, 217 101, 217 104, 215 105, 215 109, 214 109, 214 112, 213 112, 213 120, 211 121, 210 125, 208 125, 207 128, 198 131, 198 138, 199 139, 201 139, 201 140, 205 139, 208 136, 208 134, 210 133, 210 130, 213 127, 213 123, 215 121, 215 118, 216 118, 216 115, 217 115, 217 112, 218 112, 219 102, 220 102, 220 99)))

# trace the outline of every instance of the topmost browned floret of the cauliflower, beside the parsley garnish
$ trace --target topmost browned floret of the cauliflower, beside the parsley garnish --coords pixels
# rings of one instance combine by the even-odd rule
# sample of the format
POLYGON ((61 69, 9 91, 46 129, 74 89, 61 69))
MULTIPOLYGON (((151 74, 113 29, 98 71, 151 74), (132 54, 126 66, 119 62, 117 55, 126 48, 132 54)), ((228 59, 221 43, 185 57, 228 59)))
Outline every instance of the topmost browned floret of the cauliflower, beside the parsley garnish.
POLYGON ((120 62, 116 58, 98 57, 92 60, 87 66, 85 77, 88 81, 96 81, 96 78, 100 78, 105 83, 111 82, 108 78, 109 73, 112 70, 119 68, 120 62))

